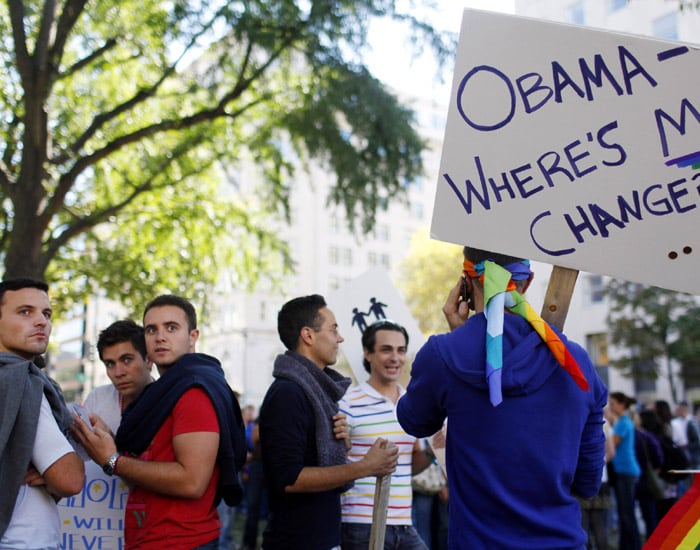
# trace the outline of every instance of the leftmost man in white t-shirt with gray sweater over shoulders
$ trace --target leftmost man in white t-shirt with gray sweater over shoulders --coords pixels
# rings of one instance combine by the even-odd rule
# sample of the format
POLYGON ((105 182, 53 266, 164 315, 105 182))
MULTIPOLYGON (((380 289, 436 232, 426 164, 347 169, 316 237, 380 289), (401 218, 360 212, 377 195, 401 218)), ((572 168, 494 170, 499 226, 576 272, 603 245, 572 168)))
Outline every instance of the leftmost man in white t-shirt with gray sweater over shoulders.
POLYGON ((0 283, 0 548, 58 548, 56 501, 83 488, 83 461, 64 435, 70 413, 35 364, 51 315, 46 283, 0 283))

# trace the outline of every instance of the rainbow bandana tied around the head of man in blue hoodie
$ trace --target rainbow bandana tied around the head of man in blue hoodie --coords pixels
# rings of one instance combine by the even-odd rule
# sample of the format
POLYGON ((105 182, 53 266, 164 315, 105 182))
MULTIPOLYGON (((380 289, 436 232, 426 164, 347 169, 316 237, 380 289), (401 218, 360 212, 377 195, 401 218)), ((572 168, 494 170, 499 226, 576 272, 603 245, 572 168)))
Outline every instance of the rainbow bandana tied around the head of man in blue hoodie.
POLYGON ((484 287, 484 314, 486 315, 486 380, 489 399, 495 407, 503 401, 501 375, 503 368, 503 318, 505 309, 525 319, 552 352, 557 362, 569 373, 576 384, 588 391, 588 380, 576 359, 549 324, 532 309, 525 297, 516 290, 514 281, 530 276, 530 262, 516 262, 501 267, 491 260, 478 264, 464 261, 470 277, 479 277, 484 287))

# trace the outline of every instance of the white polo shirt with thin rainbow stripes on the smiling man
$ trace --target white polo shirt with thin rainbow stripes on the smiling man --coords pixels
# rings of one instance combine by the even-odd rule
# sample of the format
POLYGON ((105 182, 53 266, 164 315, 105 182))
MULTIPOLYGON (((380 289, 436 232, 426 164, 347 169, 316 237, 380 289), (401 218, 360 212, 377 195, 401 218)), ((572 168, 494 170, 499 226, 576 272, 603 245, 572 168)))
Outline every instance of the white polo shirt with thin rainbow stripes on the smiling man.
MULTIPOLYGON (((399 395, 406 390, 399 386, 399 395)), ((340 410, 348 417, 352 448, 348 460, 362 459, 378 437, 392 441, 399 448, 399 464, 391 476, 387 525, 411 525, 411 462, 416 438, 401 429, 396 419, 396 405, 367 382, 351 388, 340 401, 340 410)), ((372 523, 372 505, 376 478, 363 477, 343 493, 344 523, 372 523)))

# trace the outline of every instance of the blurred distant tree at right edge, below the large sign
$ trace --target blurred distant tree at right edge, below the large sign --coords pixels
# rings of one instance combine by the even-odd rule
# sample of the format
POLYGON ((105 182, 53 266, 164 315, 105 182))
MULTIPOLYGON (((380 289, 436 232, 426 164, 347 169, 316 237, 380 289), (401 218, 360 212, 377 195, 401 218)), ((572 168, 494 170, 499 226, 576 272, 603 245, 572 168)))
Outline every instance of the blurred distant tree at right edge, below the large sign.
POLYGON ((668 377, 678 401, 672 361, 680 363, 686 384, 700 382, 697 297, 618 279, 609 282, 606 292, 610 341, 620 347, 611 363, 635 378, 668 377))

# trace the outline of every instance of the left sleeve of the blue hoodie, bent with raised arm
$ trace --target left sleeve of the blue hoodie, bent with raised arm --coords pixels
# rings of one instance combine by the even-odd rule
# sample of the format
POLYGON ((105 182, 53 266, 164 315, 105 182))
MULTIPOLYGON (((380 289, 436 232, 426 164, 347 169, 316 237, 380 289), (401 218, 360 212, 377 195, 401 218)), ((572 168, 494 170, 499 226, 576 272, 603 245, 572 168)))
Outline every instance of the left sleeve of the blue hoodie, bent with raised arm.
POLYGON ((399 399, 396 416, 401 427, 415 437, 428 437, 442 428, 445 420, 447 366, 431 336, 418 351, 411 369, 411 381, 399 399))

